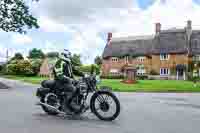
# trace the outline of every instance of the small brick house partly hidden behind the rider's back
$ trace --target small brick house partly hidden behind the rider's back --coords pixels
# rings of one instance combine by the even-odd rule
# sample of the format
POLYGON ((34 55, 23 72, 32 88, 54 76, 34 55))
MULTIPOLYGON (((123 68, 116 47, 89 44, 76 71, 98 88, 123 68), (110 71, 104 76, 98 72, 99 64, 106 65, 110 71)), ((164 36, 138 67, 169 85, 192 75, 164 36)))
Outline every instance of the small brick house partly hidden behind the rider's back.
POLYGON ((40 76, 52 77, 53 67, 57 61, 57 58, 45 58, 40 67, 40 76))

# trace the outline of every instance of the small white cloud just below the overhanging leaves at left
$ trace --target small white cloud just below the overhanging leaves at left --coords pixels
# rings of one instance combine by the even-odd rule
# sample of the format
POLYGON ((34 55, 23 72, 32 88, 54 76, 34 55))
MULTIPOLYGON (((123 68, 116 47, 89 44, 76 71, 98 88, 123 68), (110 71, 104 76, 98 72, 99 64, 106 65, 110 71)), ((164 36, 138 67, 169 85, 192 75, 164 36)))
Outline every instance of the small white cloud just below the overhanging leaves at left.
POLYGON ((12 42, 14 44, 30 44, 32 43, 32 38, 28 35, 13 34, 12 42))

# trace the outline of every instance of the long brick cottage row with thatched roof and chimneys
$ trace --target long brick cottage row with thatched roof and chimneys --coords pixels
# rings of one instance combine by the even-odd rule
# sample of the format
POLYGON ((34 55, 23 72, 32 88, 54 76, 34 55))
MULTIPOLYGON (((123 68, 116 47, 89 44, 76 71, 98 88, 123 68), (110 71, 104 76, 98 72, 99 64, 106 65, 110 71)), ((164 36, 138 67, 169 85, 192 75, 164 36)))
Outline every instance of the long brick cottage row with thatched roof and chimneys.
POLYGON ((192 29, 191 21, 183 29, 168 30, 156 23, 154 35, 112 38, 109 33, 102 75, 123 75, 122 68, 131 65, 137 68, 137 75, 185 80, 189 71, 200 76, 200 65, 195 62, 200 62, 200 30, 192 29))

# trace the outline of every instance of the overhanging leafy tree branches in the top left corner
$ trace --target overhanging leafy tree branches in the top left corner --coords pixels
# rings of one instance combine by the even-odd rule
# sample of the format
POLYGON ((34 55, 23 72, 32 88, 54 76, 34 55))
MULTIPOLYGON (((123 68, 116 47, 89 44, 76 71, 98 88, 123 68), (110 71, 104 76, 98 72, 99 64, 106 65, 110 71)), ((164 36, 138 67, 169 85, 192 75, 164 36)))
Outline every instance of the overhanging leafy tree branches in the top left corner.
POLYGON ((24 0, 0 0, 0 28, 25 33, 26 29, 39 28, 39 25, 24 0))

